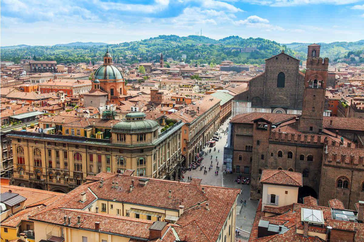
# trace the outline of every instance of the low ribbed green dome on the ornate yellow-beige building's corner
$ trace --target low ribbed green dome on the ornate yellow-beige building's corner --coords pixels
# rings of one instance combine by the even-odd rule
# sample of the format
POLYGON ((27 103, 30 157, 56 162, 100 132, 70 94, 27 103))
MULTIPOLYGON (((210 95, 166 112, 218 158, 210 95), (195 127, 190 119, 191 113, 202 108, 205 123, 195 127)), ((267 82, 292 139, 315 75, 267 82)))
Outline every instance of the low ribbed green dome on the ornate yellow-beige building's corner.
POLYGON ((131 112, 125 115, 126 120, 115 124, 111 132, 114 133, 144 133, 153 132, 158 129, 159 124, 154 120, 145 119, 146 114, 142 112, 131 112))

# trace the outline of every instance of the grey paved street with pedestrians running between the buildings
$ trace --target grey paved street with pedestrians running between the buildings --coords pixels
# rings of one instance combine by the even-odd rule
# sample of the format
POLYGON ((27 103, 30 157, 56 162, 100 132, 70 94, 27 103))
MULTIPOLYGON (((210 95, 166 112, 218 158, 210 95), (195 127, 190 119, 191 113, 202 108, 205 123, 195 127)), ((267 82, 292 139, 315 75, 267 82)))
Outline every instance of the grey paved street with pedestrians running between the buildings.
MULTIPOLYGON (((208 185, 215 185, 215 186, 226 186, 231 188, 239 188, 241 189, 241 194, 238 197, 238 206, 242 206, 240 214, 236 215, 236 226, 238 229, 241 229, 240 233, 241 235, 237 236, 236 241, 238 242, 239 239, 241 242, 248 241, 250 230, 252 229, 252 223, 254 221, 255 212, 258 206, 258 201, 251 201, 249 199, 250 197, 250 185, 242 185, 237 184, 234 180, 237 178, 238 174, 222 174, 222 166, 223 166, 223 150, 224 146, 226 145, 227 141, 227 135, 223 133, 223 131, 226 130, 228 123, 230 119, 227 119, 225 123, 222 124, 220 129, 218 130, 219 135, 221 136, 221 139, 219 141, 216 141, 216 151, 214 152, 214 148, 211 148, 211 153, 208 153, 207 156, 204 155, 204 159, 202 160, 202 164, 205 165, 207 174, 203 174, 203 169, 200 171, 200 168, 197 168, 195 170, 187 171, 183 176, 185 177, 185 180, 187 181, 187 177, 198 177, 201 178, 202 184, 208 184, 208 185), (218 152, 220 150, 220 152, 218 152), (212 165, 213 169, 209 171, 209 166, 211 164, 211 156, 212 156, 212 165), (218 166, 220 167, 220 170, 218 172, 218 176, 215 175, 217 161, 216 156, 218 160, 218 166), (240 203, 241 198, 243 200, 246 200, 246 205, 242 205, 240 203), (248 232, 248 233, 245 233, 248 232)), ((204 151, 208 151, 210 148, 205 148, 204 151)))

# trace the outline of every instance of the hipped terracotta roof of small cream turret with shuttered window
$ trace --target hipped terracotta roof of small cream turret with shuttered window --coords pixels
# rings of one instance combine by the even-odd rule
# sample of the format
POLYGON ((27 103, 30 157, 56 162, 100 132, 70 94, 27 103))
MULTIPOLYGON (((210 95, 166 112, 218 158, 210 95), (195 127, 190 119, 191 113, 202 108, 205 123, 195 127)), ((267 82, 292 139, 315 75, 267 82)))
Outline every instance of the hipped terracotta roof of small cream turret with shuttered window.
POLYGON ((285 170, 263 170, 260 182, 285 186, 302 186, 302 174, 285 170))

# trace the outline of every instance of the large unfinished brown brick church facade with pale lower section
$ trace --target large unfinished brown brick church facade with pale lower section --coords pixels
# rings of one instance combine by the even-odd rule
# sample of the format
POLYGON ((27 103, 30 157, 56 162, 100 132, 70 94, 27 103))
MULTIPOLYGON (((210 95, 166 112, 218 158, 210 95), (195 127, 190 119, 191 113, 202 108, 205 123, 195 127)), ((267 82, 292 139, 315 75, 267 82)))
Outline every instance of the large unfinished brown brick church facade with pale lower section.
POLYGON ((233 116, 247 112, 301 114, 305 74, 300 60, 282 51, 265 60, 265 71, 233 102, 233 116))

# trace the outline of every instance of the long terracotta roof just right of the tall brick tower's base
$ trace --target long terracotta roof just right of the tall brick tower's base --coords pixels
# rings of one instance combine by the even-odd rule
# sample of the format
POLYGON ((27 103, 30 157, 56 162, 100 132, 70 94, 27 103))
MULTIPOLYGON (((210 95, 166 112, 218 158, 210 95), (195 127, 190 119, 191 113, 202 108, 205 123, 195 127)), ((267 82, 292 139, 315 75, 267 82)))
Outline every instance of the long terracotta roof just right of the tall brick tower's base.
POLYGON ((324 116, 323 128, 364 131, 364 119, 324 116), (330 120, 332 120, 332 125, 330 125, 330 120))

